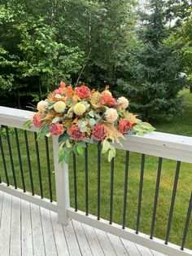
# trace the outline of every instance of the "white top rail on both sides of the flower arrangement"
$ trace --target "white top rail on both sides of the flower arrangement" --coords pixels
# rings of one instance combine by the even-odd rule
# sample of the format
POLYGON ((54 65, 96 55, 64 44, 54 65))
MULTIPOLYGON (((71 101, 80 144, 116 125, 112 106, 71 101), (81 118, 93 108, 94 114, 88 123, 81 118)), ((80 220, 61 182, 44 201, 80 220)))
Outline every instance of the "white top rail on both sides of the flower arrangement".
MULTIPOLYGON (((24 129, 24 123, 33 114, 31 111, 0 107, 0 125, 24 129)), ((31 130, 37 129, 33 127, 31 130)), ((126 135, 125 138, 121 140, 122 146, 115 144, 116 148, 192 163, 192 137, 153 132, 143 137, 126 135)))

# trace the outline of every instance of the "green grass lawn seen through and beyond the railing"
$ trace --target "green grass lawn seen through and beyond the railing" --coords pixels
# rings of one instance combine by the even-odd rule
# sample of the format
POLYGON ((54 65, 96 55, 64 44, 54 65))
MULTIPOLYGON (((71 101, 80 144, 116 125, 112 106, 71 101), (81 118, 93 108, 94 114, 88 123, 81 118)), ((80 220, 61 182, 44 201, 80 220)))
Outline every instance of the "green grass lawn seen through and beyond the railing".
MULTIPOLYGON (((185 113, 181 117, 176 117, 167 123, 155 124, 158 131, 178 135, 192 136, 192 94, 187 90, 183 90, 181 94, 184 96, 185 113)), ((18 187, 22 188, 20 179, 20 168, 17 159, 15 138, 13 130, 11 131, 11 148, 14 156, 15 171, 18 181, 18 187)), ((36 151, 34 146, 33 133, 28 132, 28 140, 30 145, 30 156, 33 170, 33 182, 35 192, 39 194, 38 173, 36 151)), ((9 154, 7 152, 6 139, 3 138, 3 146, 7 159, 7 170, 11 184, 11 165, 9 161, 9 154)), ((41 159, 41 174, 43 180, 44 196, 49 197, 48 192, 48 179, 46 170, 46 151, 45 142, 39 141, 40 159, 41 159)), ((24 135, 20 131, 20 149, 22 154, 22 161, 24 166, 24 178, 26 181, 26 188, 30 191, 29 174, 28 174, 28 161, 24 145, 24 135)), ((125 152, 119 150, 115 159, 115 179, 114 179, 114 205, 113 205, 113 222, 122 224, 123 218, 123 196, 124 196, 124 158, 125 152)), ((157 207, 157 215, 155 221, 155 236, 164 239, 166 234, 166 227, 168 223, 168 213, 172 197, 172 186, 174 182, 174 175, 176 170, 176 161, 164 159, 163 168, 159 187, 159 201, 157 207)), ((54 171, 53 156, 50 141, 50 166, 54 171)), ((77 204, 79 210, 85 210, 85 170, 84 158, 77 157, 77 204)), ((129 178, 128 178, 128 208, 126 215, 126 226, 135 229, 137 218, 137 196, 139 189, 141 166, 141 154, 130 153, 129 163, 129 178)), ((143 195, 142 195, 142 211, 140 232, 150 234, 151 230, 151 216, 153 210, 154 196, 155 196, 155 182, 158 166, 158 157, 146 156, 146 165, 144 172, 143 195)), ((70 171, 70 193, 71 204, 74 206, 74 193, 73 193, 73 176, 72 176, 72 161, 69 164, 70 171)), ((192 185, 192 165, 181 163, 181 173, 177 188, 177 197, 172 218, 172 228, 170 233, 170 241, 181 245, 181 237, 185 226, 185 216, 188 209, 190 200, 190 192, 192 185)), ((2 159, 0 157, 0 174, 2 181, 5 182, 4 170, 2 168, 2 159)), ((54 172, 52 173, 52 186, 55 198, 55 183, 54 172)), ((107 162, 107 157, 102 156, 102 170, 101 170, 101 217, 109 219, 109 201, 110 201, 110 164, 107 162)), ((89 145, 89 213, 97 214, 97 153, 94 145, 89 145)), ((190 221, 190 229, 188 232, 185 247, 192 249, 192 221, 190 221)))

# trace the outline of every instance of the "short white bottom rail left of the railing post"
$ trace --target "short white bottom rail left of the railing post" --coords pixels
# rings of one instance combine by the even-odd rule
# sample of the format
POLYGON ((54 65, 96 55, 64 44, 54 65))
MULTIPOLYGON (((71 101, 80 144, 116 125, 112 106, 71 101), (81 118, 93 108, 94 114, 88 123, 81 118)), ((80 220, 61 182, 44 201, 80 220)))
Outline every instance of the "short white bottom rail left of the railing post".
POLYGON ((31 192, 23 192, 22 189, 20 188, 15 189, 11 185, 7 186, 6 183, 0 183, 0 191, 7 192, 12 196, 19 197, 20 199, 24 199, 25 201, 33 203, 34 205, 39 205, 43 208, 52 210, 57 213, 57 203, 55 201, 50 203, 50 201, 46 198, 41 199, 41 196, 37 196, 37 195, 33 196, 31 192))

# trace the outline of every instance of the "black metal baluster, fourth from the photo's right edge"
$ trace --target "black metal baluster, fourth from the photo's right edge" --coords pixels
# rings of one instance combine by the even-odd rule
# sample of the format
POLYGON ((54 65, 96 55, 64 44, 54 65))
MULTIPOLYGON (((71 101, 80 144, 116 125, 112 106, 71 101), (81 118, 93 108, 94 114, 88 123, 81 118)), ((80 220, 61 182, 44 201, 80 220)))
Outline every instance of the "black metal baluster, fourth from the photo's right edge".
POLYGON ((139 195, 138 195, 136 234, 138 234, 138 228, 139 228, 139 223, 140 223, 141 207, 142 207, 142 184, 143 184, 145 158, 146 158, 146 156, 144 154, 142 154, 142 166, 141 166, 140 184, 139 184, 139 195))

